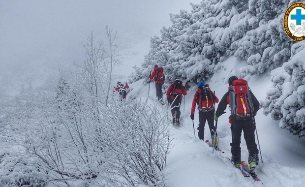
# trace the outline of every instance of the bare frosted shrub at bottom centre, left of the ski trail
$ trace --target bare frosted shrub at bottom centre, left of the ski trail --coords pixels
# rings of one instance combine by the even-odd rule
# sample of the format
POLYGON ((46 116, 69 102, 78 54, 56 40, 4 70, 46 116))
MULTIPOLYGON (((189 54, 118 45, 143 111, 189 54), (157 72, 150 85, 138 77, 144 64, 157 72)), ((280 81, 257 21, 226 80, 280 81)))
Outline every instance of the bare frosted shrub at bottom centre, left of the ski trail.
POLYGON ((107 186, 164 187, 162 169, 171 141, 166 111, 146 102, 126 100, 113 102, 104 112, 104 167, 114 175, 107 186))

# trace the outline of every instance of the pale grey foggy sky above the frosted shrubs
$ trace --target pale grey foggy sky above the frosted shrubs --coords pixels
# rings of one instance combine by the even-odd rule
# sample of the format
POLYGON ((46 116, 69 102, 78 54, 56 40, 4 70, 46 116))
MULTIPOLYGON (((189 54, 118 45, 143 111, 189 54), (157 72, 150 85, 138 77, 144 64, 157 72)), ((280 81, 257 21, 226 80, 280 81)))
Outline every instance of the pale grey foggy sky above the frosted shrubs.
POLYGON ((190 1, 0 0, 0 73, 16 75, 13 82, 43 79, 58 64, 82 61, 82 43, 91 31, 102 39, 106 25, 118 31, 122 61, 139 64, 150 37, 171 25, 170 13, 189 11, 190 1))

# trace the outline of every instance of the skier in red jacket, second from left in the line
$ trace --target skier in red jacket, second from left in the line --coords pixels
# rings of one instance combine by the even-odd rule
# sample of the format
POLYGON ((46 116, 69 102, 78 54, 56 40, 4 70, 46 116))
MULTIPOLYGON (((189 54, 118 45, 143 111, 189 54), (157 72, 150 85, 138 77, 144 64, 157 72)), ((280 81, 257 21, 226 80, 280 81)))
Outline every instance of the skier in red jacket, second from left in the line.
POLYGON ((151 80, 154 79, 157 99, 161 104, 164 104, 162 86, 165 81, 165 75, 163 73, 163 67, 158 67, 158 65, 154 65, 152 74, 150 75, 149 78, 151 80))

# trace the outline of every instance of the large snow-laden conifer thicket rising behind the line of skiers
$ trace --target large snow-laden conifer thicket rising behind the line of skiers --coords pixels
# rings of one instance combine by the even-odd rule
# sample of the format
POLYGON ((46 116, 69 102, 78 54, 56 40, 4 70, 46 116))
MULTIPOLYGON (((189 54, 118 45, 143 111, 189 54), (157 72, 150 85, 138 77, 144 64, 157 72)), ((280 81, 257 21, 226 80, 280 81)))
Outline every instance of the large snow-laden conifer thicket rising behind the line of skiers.
POLYGON ((235 56, 248 65, 242 77, 278 67, 291 55, 293 42, 282 28, 288 4, 278 0, 202 0, 190 13, 171 15, 173 25, 151 39, 151 50, 131 81, 146 77, 154 64, 163 65, 172 82, 197 82, 221 68, 218 62, 235 56), (168 33, 168 34, 164 34, 168 33))

